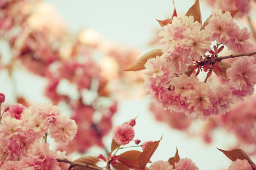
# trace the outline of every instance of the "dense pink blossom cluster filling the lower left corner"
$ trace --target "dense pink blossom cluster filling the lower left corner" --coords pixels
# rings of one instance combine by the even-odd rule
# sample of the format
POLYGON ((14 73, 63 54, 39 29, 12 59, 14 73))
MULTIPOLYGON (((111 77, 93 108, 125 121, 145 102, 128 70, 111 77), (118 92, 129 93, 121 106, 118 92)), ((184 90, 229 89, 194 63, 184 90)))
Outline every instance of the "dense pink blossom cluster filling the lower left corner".
POLYGON ((26 108, 15 104, 4 108, 0 121, 1 170, 68 168, 68 164, 56 161, 66 158, 65 152, 50 150, 47 136, 57 143, 68 144, 77 133, 77 125, 68 116, 60 115, 57 106, 43 104, 26 108))

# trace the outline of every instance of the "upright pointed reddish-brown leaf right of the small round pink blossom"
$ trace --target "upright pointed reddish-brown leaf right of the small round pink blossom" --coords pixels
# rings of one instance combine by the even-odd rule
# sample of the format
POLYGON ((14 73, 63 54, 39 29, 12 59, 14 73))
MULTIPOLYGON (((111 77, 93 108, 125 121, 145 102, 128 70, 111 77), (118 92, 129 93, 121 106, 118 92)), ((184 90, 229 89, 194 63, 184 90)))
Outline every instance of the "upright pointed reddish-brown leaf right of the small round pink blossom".
POLYGON ((141 170, 144 170, 148 161, 150 160, 153 153, 156 151, 156 148, 159 145, 159 142, 162 140, 162 137, 159 141, 150 142, 146 145, 141 155, 138 157, 138 165, 141 170))

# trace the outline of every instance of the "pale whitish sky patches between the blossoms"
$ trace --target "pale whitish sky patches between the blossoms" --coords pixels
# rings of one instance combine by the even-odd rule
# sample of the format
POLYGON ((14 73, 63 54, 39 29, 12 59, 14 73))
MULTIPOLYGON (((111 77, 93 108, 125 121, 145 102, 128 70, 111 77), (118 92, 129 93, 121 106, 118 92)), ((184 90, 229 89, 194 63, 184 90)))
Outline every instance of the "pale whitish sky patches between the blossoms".
MULTIPOLYGON (((164 20, 173 13, 172 0, 45 0, 52 4, 63 18, 71 31, 78 32, 83 28, 91 28, 100 33, 106 40, 121 42, 137 48, 141 53, 152 49, 147 46, 154 37, 154 30, 159 28, 155 19, 164 20)), ((175 0, 178 14, 185 13, 194 0, 175 0)), ((211 8, 201 3, 202 20, 211 13, 211 8)), ((134 73, 136 74, 136 72, 134 73)), ((6 80, 5 73, 0 74, 0 91, 11 94, 12 87, 6 80)), ((46 82, 44 79, 26 73, 15 75, 19 83, 19 94, 25 94, 35 102, 47 101, 42 91, 46 82), (24 78, 26 77, 26 79, 24 78)), ((10 101, 10 99, 7 99, 10 101)), ((119 103, 119 110, 114 118, 114 125, 119 125, 138 115, 135 126, 135 139, 141 141, 163 139, 152 157, 152 161, 165 160, 174 156, 176 147, 181 158, 188 157, 194 161, 200 170, 220 170, 230 165, 231 161, 218 151, 216 147, 226 149, 234 142, 234 136, 215 131, 213 144, 206 145, 201 139, 188 138, 185 134, 171 130, 168 125, 156 122, 148 111, 149 99, 134 99, 119 103)), ((195 125, 196 127, 196 125, 195 125)), ((195 128, 196 129, 196 128, 195 128)), ((88 136, 85 136, 88 137, 88 136)), ((105 138, 105 144, 110 147, 111 135, 105 138)), ((90 150, 91 154, 100 154, 97 148, 90 150)))

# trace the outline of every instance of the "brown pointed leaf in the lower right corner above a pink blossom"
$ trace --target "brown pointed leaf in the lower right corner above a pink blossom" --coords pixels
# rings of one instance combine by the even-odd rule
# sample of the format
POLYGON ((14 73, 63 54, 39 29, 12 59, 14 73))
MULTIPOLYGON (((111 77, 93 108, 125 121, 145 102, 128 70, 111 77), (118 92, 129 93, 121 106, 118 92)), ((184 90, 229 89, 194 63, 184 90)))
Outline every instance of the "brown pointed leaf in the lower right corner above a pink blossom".
POLYGON ((246 159, 250 165, 253 165, 254 167, 256 167, 254 162, 250 159, 249 156, 247 156, 244 150, 241 150, 241 149, 221 150, 219 148, 217 149, 220 150, 222 153, 224 153, 232 161, 236 161, 236 159, 241 159, 241 160, 246 159))

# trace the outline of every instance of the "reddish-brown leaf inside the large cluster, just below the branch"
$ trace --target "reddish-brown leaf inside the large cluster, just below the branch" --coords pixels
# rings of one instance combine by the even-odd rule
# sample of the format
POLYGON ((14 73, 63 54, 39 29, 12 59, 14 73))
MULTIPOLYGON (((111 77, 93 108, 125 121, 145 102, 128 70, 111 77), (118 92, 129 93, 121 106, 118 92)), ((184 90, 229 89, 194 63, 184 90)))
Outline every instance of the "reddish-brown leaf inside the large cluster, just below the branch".
POLYGON ((229 62, 218 62, 216 63, 213 68, 212 71, 217 74, 218 77, 221 77, 223 79, 227 79, 229 80, 229 78, 227 77, 227 68, 230 68, 231 65, 229 62))

